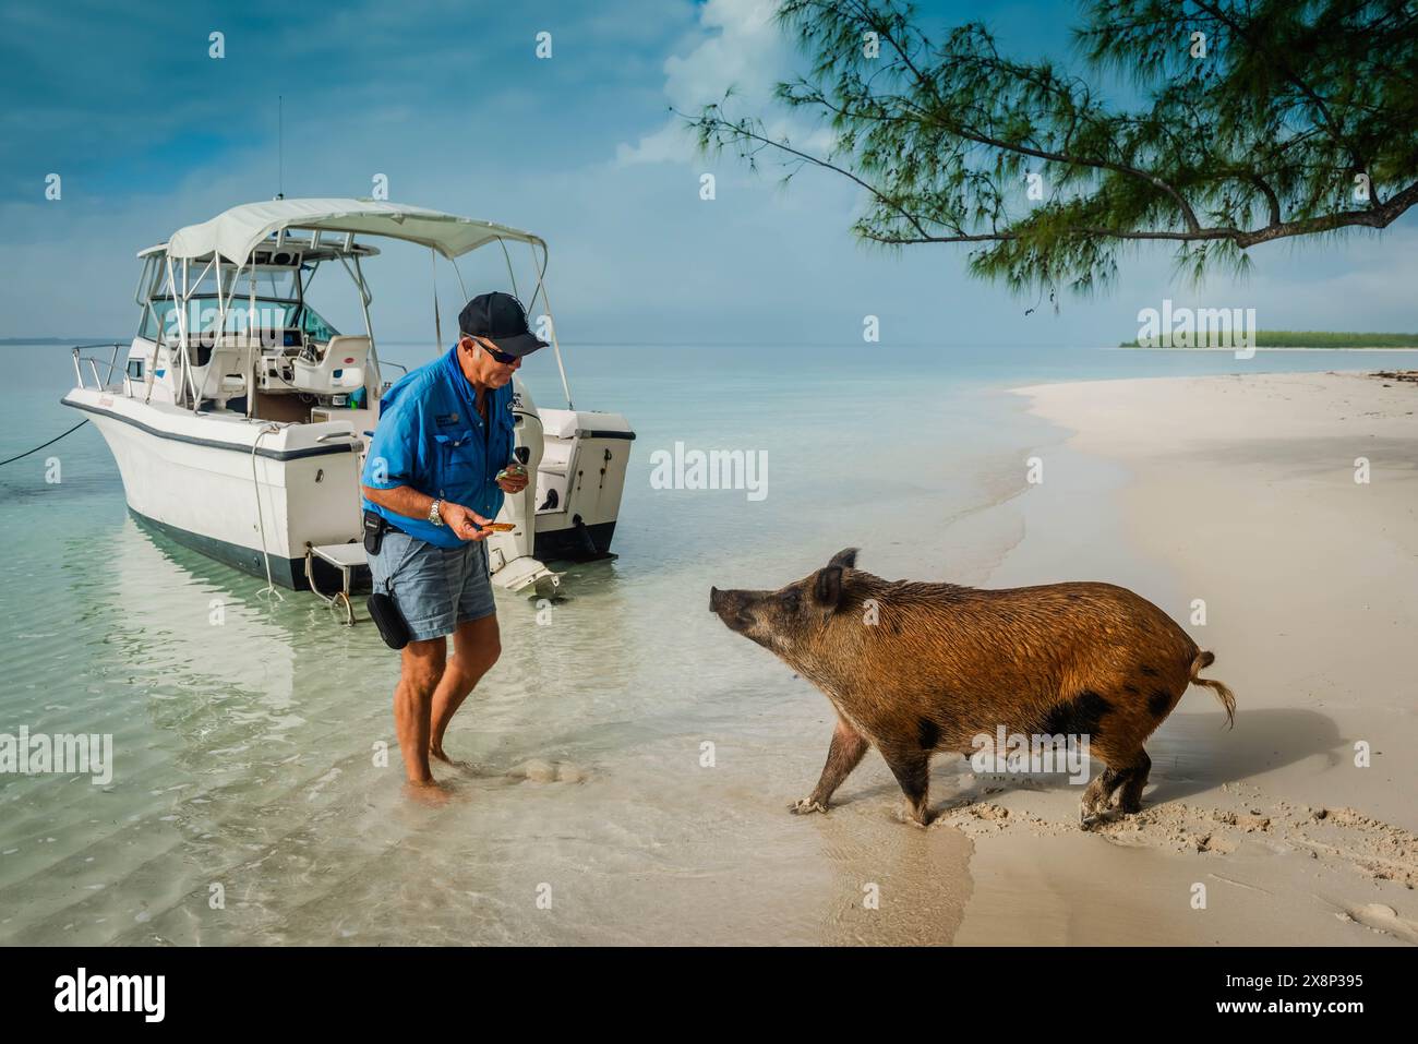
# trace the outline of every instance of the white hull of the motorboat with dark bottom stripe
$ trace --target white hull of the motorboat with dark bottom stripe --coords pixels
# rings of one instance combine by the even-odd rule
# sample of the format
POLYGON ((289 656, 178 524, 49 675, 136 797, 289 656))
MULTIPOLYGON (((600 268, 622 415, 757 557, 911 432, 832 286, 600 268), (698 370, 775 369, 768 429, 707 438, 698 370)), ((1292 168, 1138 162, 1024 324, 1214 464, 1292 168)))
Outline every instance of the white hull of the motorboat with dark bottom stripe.
MULTIPOLYGON (((353 420, 271 426, 89 389, 74 389, 62 401, 98 427, 118 464, 128 508, 150 532, 252 576, 265 577, 269 567, 274 583, 295 590, 312 586, 309 546, 362 538, 363 444, 353 420)), ((493 570, 525 556, 607 557, 634 433, 615 414, 552 410, 545 414, 557 428, 543 435, 530 397, 525 401, 519 440, 527 444, 525 460, 537 487, 506 499, 498 518, 518 529, 491 538, 493 570), (543 445, 559 450, 546 470, 537 467, 543 445), (556 506, 535 509, 542 501, 556 506)), ((318 590, 343 587, 329 562, 311 563, 318 590)), ((353 569, 352 593, 369 589, 369 567, 353 569)))

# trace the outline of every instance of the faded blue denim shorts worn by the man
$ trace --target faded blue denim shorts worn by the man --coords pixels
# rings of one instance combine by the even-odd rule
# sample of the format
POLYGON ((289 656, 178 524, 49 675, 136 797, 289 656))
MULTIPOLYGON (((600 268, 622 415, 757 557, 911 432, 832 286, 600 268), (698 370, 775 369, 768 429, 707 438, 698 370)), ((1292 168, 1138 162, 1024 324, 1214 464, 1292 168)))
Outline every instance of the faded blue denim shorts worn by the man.
POLYGON ((376 592, 394 599, 410 641, 452 634, 461 623, 498 611, 492 600, 486 540, 440 548, 408 533, 384 533, 369 556, 376 592))

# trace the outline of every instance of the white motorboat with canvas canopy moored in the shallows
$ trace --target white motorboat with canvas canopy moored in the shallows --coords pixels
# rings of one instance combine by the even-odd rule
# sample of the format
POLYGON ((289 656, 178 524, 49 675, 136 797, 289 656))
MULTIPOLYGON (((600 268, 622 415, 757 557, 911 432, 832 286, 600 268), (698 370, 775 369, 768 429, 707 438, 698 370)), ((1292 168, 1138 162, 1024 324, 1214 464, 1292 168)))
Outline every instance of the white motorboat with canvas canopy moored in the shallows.
MULTIPOLYGON (((610 553, 635 434, 620 414, 571 406, 542 278, 547 247, 530 233, 370 200, 234 207, 139 252, 138 335, 74 349, 78 384, 64 404, 108 441, 140 522, 269 583, 333 593, 352 620, 349 594, 369 584, 359 477, 390 383, 369 316, 370 238, 420 244, 454 271, 458 257, 498 244, 512 292, 508 247, 530 248, 526 309, 545 316, 537 329, 566 409, 539 410, 515 380, 516 454, 536 482, 506 498, 498 521, 515 529, 488 538, 488 550, 501 586, 553 592, 560 574, 549 562, 610 553), (309 304, 323 267, 353 279, 363 333, 336 331, 309 304)), ((445 350, 437 287, 434 336, 445 350)))

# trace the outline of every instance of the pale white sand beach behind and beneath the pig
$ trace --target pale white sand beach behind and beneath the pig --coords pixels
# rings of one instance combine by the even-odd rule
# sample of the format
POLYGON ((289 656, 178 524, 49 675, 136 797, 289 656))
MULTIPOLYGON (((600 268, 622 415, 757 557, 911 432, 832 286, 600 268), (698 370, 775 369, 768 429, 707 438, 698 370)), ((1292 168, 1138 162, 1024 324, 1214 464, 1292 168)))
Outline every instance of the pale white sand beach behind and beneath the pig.
POLYGON ((1132 586, 1215 652, 1238 715, 1227 731, 1190 689, 1149 742, 1143 813, 1096 833, 1075 787, 963 774, 940 823, 976 845, 954 942, 1418 943, 1418 384, 1020 393, 1072 434, 1039 451, 1024 538, 983 586, 1132 586))

